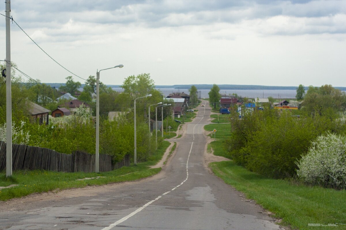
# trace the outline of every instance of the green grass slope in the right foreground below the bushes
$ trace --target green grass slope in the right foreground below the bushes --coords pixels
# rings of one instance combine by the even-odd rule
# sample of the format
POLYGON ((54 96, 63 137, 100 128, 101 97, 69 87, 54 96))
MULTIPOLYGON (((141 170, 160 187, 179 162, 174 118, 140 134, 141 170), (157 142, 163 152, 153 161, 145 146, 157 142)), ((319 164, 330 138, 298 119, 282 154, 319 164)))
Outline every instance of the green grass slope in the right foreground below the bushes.
POLYGON ((346 229, 346 190, 306 186, 288 180, 268 179, 233 161, 210 163, 212 171, 227 184, 275 213, 280 224, 292 229, 346 229), (308 223, 339 223, 338 227, 309 227, 308 223), (343 224, 340 224, 343 223, 343 224))

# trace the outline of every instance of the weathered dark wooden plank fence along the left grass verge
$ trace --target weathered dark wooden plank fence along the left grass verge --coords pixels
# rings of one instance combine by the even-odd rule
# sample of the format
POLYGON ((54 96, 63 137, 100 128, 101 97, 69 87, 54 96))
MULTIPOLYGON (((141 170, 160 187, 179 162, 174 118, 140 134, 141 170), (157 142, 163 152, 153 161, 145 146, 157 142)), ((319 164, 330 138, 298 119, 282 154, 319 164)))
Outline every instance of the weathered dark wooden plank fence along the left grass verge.
MULTIPOLYGON (((122 161, 112 163, 112 156, 99 155, 99 171, 111 171, 130 165, 127 154, 122 161)), ((0 171, 6 168, 6 143, 0 141, 0 171)), ((12 145, 12 170, 51 170, 61 172, 94 172, 95 155, 76 151, 72 154, 56 152, 52 149, 12 145)))

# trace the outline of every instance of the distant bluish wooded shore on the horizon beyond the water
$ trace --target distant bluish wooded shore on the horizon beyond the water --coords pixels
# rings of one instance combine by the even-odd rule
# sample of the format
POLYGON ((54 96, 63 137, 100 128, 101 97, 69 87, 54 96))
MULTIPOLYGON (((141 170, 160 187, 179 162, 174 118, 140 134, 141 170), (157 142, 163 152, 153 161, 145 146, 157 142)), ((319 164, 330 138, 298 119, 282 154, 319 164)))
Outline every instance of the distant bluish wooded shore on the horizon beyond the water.
MULTIPOLYGON (((65 83, 45 83, 50 85, 51 87, 59 88, 61 85, 65 85, 65 83)), ((84 87, 85 84, 82 84, 81 88, 84 87)), ((181 85, 172 85, 172 86, 166 86, 166 85, 156 85, 156 88, 161 88, 161 89, 167 89, 167 88, 172 88, 172 89, 190 89, 191 86, 197 87, 197 89, 211 89, 213 86, 212 84, 181 84, 181 85)), ((107 85, 107 87, 111 88, 119 88, 120 85, 107 85)), ((245 89, 245 90, 285 90, 285 89, 290 89, 290 90, 296 90, 298 86, 258 86, 258 85, 235 85, 235 84, 219 84, 218 87, 220 90, 224 89, 245 89)), ((346 87, 334 87, 336 89, 346 91, 346 87)), ((307 90, 308 87, 305 87, 307 90)))

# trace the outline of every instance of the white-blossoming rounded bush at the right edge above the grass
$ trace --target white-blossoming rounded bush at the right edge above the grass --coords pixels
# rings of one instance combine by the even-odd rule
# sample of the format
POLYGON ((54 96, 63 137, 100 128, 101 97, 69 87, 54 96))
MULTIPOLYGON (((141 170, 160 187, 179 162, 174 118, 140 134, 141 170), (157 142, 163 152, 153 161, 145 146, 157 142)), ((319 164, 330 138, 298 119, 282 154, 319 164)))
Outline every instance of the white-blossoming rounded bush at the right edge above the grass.
POLYGON ((297 162, 297 175, 309 184, 346 189, 346 137, 328 133, 312 142, 297 162))

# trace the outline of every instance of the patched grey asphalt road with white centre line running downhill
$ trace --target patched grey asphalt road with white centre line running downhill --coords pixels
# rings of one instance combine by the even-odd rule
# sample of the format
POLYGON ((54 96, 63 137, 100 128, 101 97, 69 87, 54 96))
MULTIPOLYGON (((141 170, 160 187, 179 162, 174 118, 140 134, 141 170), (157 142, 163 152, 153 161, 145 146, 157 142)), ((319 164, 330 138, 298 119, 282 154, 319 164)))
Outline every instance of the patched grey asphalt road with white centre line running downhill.
POLYGON ((81 196, 51 193, 11 210, 0 206, 0 229, 282 229, 203 166, 209 114, 207 104, 199 107, 158 175, 81 196))

